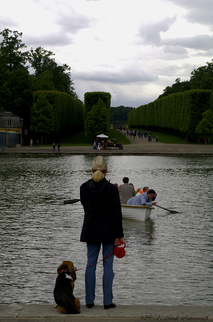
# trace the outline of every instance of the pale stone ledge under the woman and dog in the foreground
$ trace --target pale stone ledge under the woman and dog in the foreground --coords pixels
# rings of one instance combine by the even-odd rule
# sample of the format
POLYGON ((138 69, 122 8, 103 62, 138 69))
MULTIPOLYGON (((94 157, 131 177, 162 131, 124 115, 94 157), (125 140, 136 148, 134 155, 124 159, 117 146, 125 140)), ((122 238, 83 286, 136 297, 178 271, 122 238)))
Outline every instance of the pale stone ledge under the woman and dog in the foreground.
POLYGON ((103 305, 95 305, 88 309, 81 305, 80 314, 60 314, 51 304, 13 304, 0 305, 0 321, 25 322, 81 322, 81 321, 198 321, 213 322, 213 306, 183 306, 183 305, 117 305, 105 310, 103 305))

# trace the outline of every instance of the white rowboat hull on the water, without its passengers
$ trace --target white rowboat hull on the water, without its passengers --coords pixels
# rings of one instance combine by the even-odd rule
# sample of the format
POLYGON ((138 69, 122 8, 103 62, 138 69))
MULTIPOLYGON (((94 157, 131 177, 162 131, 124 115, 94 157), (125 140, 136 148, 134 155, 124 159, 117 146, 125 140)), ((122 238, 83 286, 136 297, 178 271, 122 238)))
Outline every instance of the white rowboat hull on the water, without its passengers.
POLYGON ((148 206, 131 206, 128 204, 122 204, 122 217, 137 221, 145 221, 149 218, 152 209, 155 207, 148 206))

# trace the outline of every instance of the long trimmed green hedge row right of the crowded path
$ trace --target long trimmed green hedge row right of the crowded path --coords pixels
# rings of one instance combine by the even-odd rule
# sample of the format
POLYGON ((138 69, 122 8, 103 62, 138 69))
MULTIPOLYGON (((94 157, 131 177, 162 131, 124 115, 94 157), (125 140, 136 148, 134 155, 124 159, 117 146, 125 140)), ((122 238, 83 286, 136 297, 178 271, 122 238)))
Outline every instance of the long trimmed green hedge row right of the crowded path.
POLYGON ((188 90, 156 99, 133 109, 128 114, 129 127, 167 128, 184 133, 194 133, 202 113, 212 109, 211 90, 188 90))

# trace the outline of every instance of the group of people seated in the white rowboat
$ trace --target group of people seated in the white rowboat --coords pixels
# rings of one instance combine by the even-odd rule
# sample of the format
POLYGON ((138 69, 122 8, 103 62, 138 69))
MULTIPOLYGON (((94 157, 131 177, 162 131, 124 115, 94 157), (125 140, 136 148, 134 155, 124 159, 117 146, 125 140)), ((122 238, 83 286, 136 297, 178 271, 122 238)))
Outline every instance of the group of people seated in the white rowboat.
POLYGON ((149 206, 155 205, 154 201, 157 197, 157 193, 153 189, 149 189, 149 187, 141 187, 135 190, 134 185, 129 183, 129 178, 123 178, 123 185, 118 186, 118 184, 114 184, 118 188, 119 197, 121 204, 129 204, 133 206, 149 206), (140 193, 139 195, 136 195, 140 193))

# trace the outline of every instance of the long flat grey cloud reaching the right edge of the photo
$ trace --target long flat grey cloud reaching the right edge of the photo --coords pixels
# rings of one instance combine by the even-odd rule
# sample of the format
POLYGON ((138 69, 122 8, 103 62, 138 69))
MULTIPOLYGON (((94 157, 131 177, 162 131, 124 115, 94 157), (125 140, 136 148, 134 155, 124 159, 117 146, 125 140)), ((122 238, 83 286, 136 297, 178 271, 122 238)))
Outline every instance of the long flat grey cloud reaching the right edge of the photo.
POLYGON ((166 46, 182 46, 184 48, 208 51, 213 49, 213 35, 195 35, 193 37, 185 38, 162 39, 161 44, 166 46))

